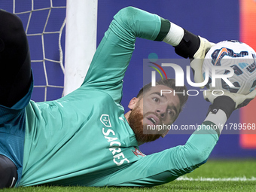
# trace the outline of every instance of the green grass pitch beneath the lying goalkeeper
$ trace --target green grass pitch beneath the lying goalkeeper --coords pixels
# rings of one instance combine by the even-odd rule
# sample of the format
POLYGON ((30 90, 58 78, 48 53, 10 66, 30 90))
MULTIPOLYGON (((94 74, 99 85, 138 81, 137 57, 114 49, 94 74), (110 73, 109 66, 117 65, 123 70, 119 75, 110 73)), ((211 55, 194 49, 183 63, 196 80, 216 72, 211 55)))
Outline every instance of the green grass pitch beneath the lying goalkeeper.
POLYGON ((157 187, 17 187, 8 192, 256 191, 256 160, 209 160, 179 180, 157 187))

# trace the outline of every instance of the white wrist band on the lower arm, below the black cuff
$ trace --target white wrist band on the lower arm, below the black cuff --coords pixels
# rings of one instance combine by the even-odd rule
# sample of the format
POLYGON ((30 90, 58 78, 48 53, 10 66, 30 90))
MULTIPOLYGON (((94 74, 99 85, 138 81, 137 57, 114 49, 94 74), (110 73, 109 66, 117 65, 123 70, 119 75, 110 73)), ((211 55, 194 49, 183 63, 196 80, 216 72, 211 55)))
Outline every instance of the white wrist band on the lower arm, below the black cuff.
POLYGON ((209 114, 206 117, 206 120, 204 121, 211 121, 212 123, 215 123, 215 125, 218 126, 218 129, 220 130, 220 133, 221 133, 227 121, 227 115, 225 114, 224 111, 219 109, 216 114, 209 112, 209 114))

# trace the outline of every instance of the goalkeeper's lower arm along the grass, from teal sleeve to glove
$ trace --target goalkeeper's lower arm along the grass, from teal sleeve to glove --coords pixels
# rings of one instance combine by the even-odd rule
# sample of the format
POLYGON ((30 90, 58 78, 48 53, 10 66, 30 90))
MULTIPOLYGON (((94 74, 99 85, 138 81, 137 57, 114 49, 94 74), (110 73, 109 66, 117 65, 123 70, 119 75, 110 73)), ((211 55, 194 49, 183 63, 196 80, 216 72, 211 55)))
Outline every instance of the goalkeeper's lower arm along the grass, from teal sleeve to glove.
POLYGON ((141 158, 126 169, 114 173, 108 185, 151 187, 173 181, 197 169, 206 163, 230 114, 236 108, 248 105, 255 96, 256 90, 248 95, 224 93, 218 96, 216 92, 215 95, 207 93, 205 99, 212 102, 212 105, 209 106, 206 120, 185 145, 141 158))

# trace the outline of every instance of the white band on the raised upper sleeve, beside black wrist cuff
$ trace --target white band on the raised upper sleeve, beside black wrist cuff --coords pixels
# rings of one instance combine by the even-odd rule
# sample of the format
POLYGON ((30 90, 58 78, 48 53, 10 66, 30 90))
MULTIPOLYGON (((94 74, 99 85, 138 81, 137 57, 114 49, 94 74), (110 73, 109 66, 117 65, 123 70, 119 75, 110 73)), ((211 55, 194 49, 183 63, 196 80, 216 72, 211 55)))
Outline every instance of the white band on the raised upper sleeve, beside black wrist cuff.
POLYGON ((184 36, 184 29, 182 29, 180 26, 175 25, 172 22, 170 23, 171 27, 163 41, 167 44, 171 44, 172 46, 177 46, 184 36))

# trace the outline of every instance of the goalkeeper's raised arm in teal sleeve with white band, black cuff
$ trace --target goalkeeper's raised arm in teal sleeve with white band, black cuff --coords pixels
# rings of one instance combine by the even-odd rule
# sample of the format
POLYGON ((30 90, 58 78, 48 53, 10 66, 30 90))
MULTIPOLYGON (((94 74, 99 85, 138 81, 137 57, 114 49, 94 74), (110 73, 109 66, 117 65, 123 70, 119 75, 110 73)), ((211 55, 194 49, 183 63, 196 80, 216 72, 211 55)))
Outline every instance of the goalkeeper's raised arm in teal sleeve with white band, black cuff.
POLYGON ((169 20, 138 8, 123 8, 114 16, 108 31, 105 32, 82 87, 103 90, 119 103, 123 77, 137 37, 165 41, 175 47, 176 53, 184 57, 194 58, 206 50, 197 35, 170 23, 169 20))

